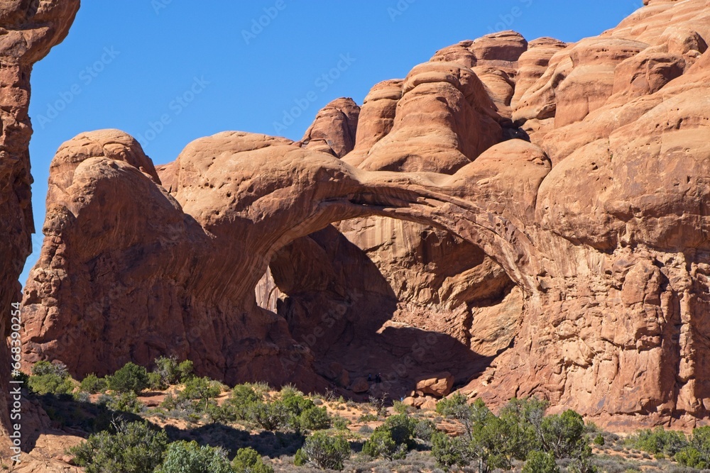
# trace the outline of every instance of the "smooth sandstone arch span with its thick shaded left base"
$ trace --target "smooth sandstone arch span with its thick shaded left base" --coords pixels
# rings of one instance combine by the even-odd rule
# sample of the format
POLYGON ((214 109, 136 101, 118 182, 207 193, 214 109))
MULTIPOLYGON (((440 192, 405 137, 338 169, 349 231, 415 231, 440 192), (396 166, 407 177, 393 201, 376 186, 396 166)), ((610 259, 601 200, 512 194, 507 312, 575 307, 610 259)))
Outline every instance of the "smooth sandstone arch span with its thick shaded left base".
POLYGON ((529 243, 511 223, 525 216, 506 215, 526 208, 526 190, 514 196, 515 185, 506 184, 496 203, 500 213, 464 199, 463 184, 505 177, 495 167, 496 152, 510 151, 537 170, 539 185, 549 162, 524 142, 499 145, 490 158, 449 177, 365 172, 288 140, 220 133, 178 157, 175 200, 156 185, 135 140, 116 130, 80 135, 53 162, 48 238, 24 301, 26 361, 48 357, 77 375, 102 374, 173 352, 227 382, 322 385, 307 356, 290 373, 273 363, 297 350, 283 321, 258 308, 253 296, 273 253, 334 221, 390 216, 446 228, 481 246, 528 290, 529 243), (508 208, 503 199, 518 202, 508 208), (109 208, 111 221, 102 220, 109 208), (80 245, 87 238, 92 244, 80 245), (139 333, 126 333, 121 321, 139 333), (93 360, 72 350, 76 344, 92 346, 93 360))

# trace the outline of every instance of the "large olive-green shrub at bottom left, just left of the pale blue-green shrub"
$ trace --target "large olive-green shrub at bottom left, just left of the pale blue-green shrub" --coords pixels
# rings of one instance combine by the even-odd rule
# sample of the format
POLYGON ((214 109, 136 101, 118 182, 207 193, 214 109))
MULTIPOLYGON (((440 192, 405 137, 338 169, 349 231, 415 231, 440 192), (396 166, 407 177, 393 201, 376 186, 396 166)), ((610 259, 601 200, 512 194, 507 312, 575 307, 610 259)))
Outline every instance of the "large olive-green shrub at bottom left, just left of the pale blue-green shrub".
POLYGON ((148 423, 120 423, 115 433, 104 431, 72 447, 75 462, 87 473, 153 473, 163 463, 168 435, 148 423))

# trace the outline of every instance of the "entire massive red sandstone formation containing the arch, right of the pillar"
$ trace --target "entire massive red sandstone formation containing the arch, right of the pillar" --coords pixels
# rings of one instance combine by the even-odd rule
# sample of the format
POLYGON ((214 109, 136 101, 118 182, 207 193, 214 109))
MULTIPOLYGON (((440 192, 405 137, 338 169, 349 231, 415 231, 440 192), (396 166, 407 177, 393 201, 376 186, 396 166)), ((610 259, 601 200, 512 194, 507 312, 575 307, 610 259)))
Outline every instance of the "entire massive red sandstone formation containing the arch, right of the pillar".
POLYGON ((708 7, 652 1, 570 45, 459 43, 302 142, 219 133, 160 179, 130 137, 80 135, 53 164, 27 362, 168 353, 395 396, 449 372, 494 405, 706 418, 708 7))

